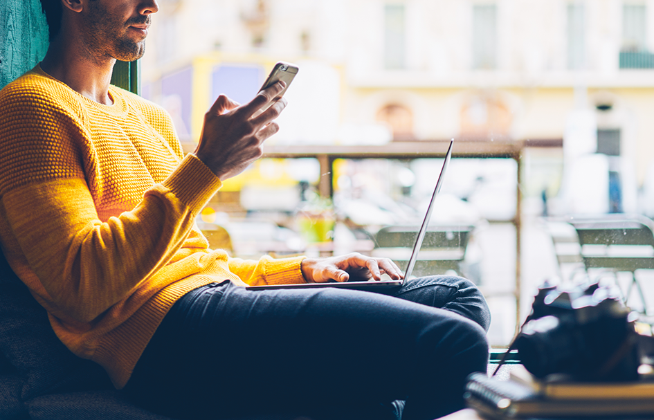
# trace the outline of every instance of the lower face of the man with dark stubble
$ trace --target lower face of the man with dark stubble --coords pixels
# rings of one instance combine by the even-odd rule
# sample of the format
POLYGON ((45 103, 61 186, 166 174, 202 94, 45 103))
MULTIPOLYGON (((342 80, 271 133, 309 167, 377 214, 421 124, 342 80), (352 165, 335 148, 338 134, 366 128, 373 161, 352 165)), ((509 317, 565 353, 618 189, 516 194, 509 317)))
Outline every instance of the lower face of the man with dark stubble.
POLYGON ((88 0, 84 31, 89 53, 134 61, 145 53, 155 0, 88 0), (147 7, 151 6, 151 7, 147 7))

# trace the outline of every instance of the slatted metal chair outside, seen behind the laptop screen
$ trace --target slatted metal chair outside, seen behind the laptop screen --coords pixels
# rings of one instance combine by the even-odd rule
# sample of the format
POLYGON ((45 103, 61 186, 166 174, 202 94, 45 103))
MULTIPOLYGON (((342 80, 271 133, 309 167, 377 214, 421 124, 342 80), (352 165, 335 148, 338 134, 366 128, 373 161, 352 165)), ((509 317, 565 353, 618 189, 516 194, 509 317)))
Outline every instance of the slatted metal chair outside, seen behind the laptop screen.
MULTIPOLYGON (((388 257, 402 269, 411 255, 419 226, 386 226, 374 235, 374 257, 388 257)), ((429 226, 425 234, 413 275, 462 275, 462 262, 473 226, 429 226)))

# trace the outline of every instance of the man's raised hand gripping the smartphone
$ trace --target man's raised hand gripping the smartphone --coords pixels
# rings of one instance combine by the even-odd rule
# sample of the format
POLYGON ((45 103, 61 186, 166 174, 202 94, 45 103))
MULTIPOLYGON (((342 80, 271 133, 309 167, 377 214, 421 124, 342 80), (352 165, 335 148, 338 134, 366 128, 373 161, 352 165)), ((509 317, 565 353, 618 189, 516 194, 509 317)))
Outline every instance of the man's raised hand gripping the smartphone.
POLYGON ((243 172, 263 154, 264 140, 279 131, 273 120, 287 102, 280 98, 260 116, 252 116, 285 86, 284 82, 275 83, 242 106, 220 95, 204 116, 195 156, 223 181, 243 172))

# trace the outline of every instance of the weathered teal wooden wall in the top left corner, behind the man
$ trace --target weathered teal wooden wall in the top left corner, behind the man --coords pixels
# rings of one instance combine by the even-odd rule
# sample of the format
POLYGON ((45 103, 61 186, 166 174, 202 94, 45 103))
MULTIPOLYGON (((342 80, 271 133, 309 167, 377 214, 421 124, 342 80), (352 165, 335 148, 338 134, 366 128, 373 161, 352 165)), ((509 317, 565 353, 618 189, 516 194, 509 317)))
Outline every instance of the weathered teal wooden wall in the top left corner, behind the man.
POLYGON ((39 0, 0 0, 0 88, 41 61, 48 23, 39 0))

